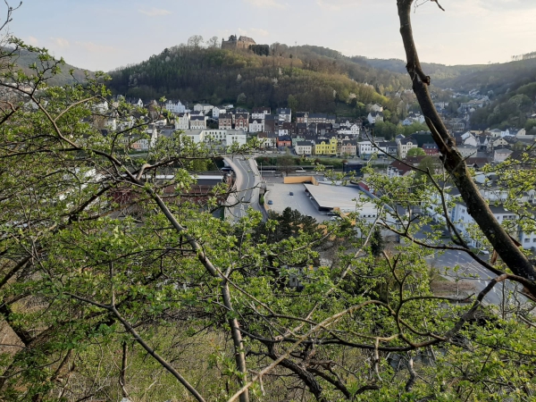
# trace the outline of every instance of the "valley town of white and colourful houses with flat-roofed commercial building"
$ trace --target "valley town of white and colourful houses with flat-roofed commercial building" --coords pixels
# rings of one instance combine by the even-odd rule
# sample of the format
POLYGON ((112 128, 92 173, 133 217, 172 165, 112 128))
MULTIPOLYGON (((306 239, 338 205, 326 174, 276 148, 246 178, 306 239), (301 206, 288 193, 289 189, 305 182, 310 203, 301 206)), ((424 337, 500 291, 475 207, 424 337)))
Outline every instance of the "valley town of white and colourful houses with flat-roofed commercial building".
MULTIPOLYGON (((484 166, 505 161, 521 163, 524 150, 532 146, 536 136, 527 134, 524 128, 514 127, 506 130, 465 130, 469 125, 471 113, 489 100, 487 96, 479 96, 477 93, 471 95, 474 99, 462 103, 459 108, 458 114, 461 113, 464 117, 447 118, 446 123, 455 138, 457 149, 465 158, 465 163, 476 172, 475 180, 481 187, 482 197, 495 205, 492 212, 498 222, 515 222, 516 215, 502 205, 507 200, 508 193, 505 188, 501 188, 497 175, 494 172, 480 171, 484 166)), ((256 138, 260 146, 255 152, 260 163, 252 163, 247 168, 234 165, 233 169, 230 169, 228 160, 225 162, 228 167, 223 168, 223 171, 228 169, 234 175, 251 176, 247 177, 247 180, 241 180, 247 185, 238 190, 249 191, 254 188, 247 193, 247 202, 251 202, 252 206, 264 213, 266 210, 281 213, 287 206, 293 206, 302 213, 307 212, 318 222, 333 220, 334 211, 338 214, 354 212, 365 221, 373 222, 378 214, 374 206, 376 196, 373 188, 367 184, 366 177, 362 177, 360 172, 365 164, 373 163, 375 174, 385 174, 389 178, 415 174, 415 168, 419 166, 431 167, 434 172, 443 172, 440 151, 431 138, 430 131, 420 130, 408 136, 398 134, 390 140, 374 135, 375 126, 383 121, 383 106, 378 104, 366 106, 369 110, 366 117, 350 118, 329 113, 293 113, 290 108, 277 108, 272 111, 270 107, 254 107, 247 110, 234 105, 214 106, 199 103, 189 106, 180 100, 158 103, 155 100, 143 102, 138 98, 128 101, 133 106, 147 108, 147 119, 150 119, 145 137, 121 138, 123 145, 128 145, 135 152, 147 152, 159 137, 171 137, 173 133, 180 133, 195 144, 212 144, 219 147, 218 149, 225 149, 233 144, 245 146, 252 138, 256 138), (289 155, 296 158, 294 162, 292 159, 289 161, 289 155), (281 156, 279 160, 286 159, 287 165, 283 167, 275 163, 271 166, 267 156, 276 158, 272 159, 276 161, 278 156, 281 156), (326 162, 325 158, 339 158, 333 159, 342 161, 335 170, 344 174, 353 173, 356 178, 361 179, 341 187, 341 180, 328 180, 323 173, 315 172, 314 163, 293 165, 301 159, 323 161, 332 167, 334 162, 330 164, 330 160, 326 162), (270 199, 267 198, 265 203, 258 205, 257 197, 264 199, 267 181, 270 182, 270 199), (338 185, 339 188, 333 191, 331 185, 338 185), (289 194, 295 196, 289 197, 289 194), (356 202, 352 201, 356 195, 370 198, 369 202, 359 207, 359 211, 356 211, 356 202), (255 198, 253 201, 252 197, 255 198)), ((440 113, 446 113, 447 106, 448 103, 445 102, 436 104, 440 113)), ((118 130, 132 124, 132 121, 121 121, 113 113, 107 113, 107 101, 95 107, 99 113, 106 116, 104 121, 100 121, 105 135, 107 130, 118 130)), ((530 113, 527 117, 534 118, 536 114, 530 113)), ((399 123, 402 126, 410 126, 414 122, 423 121, 421 113, 409 113, 406 119, 399 123)), ((231 185, 233 180, 229 181, 227 175, 225 178, 231 185)), ((213 182, 214 185, 214 175, 204 179, 203 172, 199 172, 197 180, 198 184, 213 182)), ((210 186, 205 190, 208 191, 209 188, 210 186)), ((457 230, 460 230, 472 247, 489 253, 490 250, 486 250, 482 242, 471 235, 470 228, 474 221, 467 214, 459 192, 455 191, 452 185, 447 186, 447 192, 448 201, 454 204, 448 214, 455 222, 457 230)), ((444 216, 437 213, 439 198, 437 203, 423 208, 422 214, 429 214, 435 222, 444 222, 444 216)), ((523 195, 519 196, 519 203, 536 205, 536 190, 524 191, 523 195)), ((236 211, 230 211, 233 216, 240 217, 245 214, 243 206, 235 209, 236 211)), ((526 232, 518 226, 510 226, 509 232, 523 248, 532 251, 536 249, 535 232, 526 232)))

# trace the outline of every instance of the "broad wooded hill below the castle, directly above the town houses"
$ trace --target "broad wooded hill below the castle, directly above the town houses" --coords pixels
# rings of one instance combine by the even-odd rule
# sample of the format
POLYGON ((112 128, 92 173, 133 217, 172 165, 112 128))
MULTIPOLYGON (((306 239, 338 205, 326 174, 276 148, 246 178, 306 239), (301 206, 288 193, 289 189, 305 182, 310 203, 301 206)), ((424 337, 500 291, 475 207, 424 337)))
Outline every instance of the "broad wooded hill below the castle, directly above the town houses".
POLYGON ((247 107, 290 105, 311 112, 335 112, 352 98, 354 104, 385 105, 383 94, 410 86, 405 74, 354 63, 331 49, 281 44, 272 45, 268 56, 174 46, 110 74, 110 88, 124 96, 247 107))

